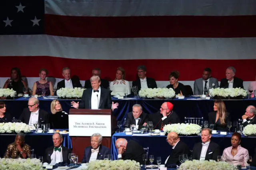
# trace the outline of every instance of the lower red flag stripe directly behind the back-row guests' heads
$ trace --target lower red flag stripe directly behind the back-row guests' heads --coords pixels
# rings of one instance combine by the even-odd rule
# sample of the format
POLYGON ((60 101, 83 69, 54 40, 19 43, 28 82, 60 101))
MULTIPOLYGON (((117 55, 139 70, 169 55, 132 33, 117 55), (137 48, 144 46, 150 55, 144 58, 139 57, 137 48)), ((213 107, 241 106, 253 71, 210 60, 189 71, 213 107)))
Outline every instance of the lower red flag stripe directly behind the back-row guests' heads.
POLYGON ((255 80, 256 59, 244 60, 198 60, 198 59, 144 59, 144 60, 87 60, 66 59, 48 56, 22 56, 1 57, 5 61, 1 66, 0 77, 9 77, 12 67, 19 67, 22 75, 26 77, 38 77, 40 68, 48 69, 48 77, 62 78, 62 68, 70 67, 72 75, 78 75, 80 80, 89 79, 92 69, 99 67, 102 76, 109 81, 115 78, 116 68, 122 66, 126 70, 126 79, 136 79, 138 65, 146 65, 146 75, 157 81, 168 81, 170 71, 180 72, 180 81, 194 81, 202 75, 205 67, 212 69, 212 76, 218 80, 225 77, 226 68, 236 68, 236 76, 244 81, 255 80))

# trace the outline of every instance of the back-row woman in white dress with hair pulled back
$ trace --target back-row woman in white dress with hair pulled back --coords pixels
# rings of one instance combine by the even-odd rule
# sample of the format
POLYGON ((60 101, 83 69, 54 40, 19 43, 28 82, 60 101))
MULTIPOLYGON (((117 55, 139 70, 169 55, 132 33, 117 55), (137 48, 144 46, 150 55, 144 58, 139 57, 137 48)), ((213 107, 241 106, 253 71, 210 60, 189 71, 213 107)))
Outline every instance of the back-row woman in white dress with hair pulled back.
POLYGON ((125 96, 131 93, 130 83, 125 80, 125 70, 122 67, 116 69, 116 79, 110 82, 111 95, 125 96))

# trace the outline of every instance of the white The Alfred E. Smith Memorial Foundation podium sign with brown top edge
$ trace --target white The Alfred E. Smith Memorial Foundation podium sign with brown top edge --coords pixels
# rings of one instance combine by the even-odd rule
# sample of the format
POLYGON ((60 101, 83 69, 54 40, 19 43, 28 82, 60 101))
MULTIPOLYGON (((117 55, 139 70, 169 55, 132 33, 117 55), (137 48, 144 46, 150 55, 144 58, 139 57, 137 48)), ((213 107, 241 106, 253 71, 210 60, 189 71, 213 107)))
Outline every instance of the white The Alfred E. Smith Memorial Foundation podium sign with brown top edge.
POLYGON ((69 136, 92 136, 94 133, 111 136, 110 109, 70 109, 70 111, 69 136))

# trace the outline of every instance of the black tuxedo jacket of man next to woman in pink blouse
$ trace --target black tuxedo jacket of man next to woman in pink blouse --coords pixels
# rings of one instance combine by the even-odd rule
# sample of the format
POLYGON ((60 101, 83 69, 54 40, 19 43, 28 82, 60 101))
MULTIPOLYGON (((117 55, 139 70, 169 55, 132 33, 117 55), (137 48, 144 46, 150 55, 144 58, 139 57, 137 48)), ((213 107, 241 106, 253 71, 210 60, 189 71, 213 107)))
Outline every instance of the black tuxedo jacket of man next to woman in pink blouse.
MULTIPOLYGON (((202 151, 202 142, 198 142, 194 145, 192 152, 192 160, 200 160, 202 151)), ((206 151, 205 160, 217 160, 217 156, 220 154, 220 146, 215 142, 210 141, 208 149, 206 151)))

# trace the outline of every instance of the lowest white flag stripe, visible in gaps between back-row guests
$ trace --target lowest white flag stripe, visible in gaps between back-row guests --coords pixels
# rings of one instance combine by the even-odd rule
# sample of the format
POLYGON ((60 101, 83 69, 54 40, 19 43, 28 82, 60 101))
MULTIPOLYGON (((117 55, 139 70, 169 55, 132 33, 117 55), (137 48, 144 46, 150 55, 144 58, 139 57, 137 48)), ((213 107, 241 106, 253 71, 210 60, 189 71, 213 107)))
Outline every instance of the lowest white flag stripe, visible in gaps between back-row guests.
MULTIPOLYGON (((10 78, 10 77, 0 77, 0 87, 4 87, 4 83, 5 81, 10 78)), ((39 80, 38 77, 22 77, 22 79, 28 84, 28 87, 32 88, 33 84, 39 80)), ((59 81, 62 81, 63 79, 59 79, 59 78, 54 78, 54 77, 47 77, 48 81, 52 82, 53 86, 57 86, 57 83, 59 81)), ((80 80, 80 83, 82 86, 84 86, 84 82, 85 80, 80 80)), ((132 81, 130 82, 130 86, 132 86, 132 81)), ((194 81, 179 81, 180 83, 184 84, 184 85, 190 85, 192 87, 192 89, 194 89, 194 81)), ((156 81, 157 87, 158 88, 163 88, 166 87, 170 84, 169 81, 156 81)), ((244 81, 244 88, 248 89, 248 86, 250 84, 250 81, 244 81)), ((220 85, 220 82, 219 82, 220 85)))

